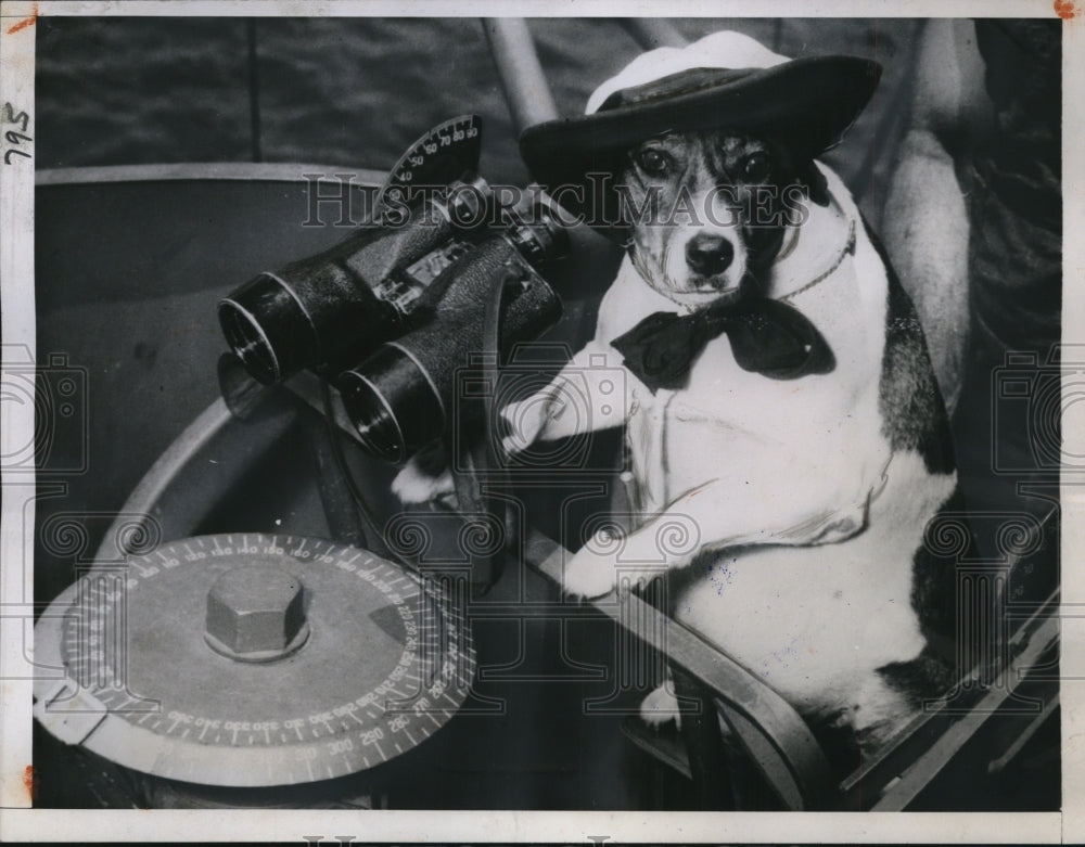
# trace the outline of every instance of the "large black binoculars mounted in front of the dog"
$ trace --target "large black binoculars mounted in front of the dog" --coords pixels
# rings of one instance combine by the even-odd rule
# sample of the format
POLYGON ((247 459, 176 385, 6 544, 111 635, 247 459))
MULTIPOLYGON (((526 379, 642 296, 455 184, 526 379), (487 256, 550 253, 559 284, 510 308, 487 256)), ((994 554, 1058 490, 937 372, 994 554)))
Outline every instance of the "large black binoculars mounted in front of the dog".
POLYGON ((467 175, 398 220, 265 272, 218 306, 227 343, 264 384, 310 370, 335 385, 361 444, 403 462, 439 438, 457 408, 457 372, 561 317, 539 271, 563 256, 557 209, 495 207, 467 175))

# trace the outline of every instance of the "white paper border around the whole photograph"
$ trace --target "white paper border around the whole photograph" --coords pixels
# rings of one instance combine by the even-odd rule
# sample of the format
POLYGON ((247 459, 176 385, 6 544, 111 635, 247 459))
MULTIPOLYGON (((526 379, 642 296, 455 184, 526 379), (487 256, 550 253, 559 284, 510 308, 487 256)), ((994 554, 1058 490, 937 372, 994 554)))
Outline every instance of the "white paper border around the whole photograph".
MULTIPOLYGON (((1085 2, 1067 0, 778 0, 778 16, 1055 17, 1063 25, 1063 343, 1085 338, 1085 240, 1071 233, 1085 221, 1085 2)), ((0 103, 34 116, 34 18, 131 16, 638 16, 765 15, 760 0, 413 0, 413 2, 16 2, 0 5, 0 103)), ((33 134, 29 133, 29 134, 33 134)), ((0 285, 5 349, 35 349, 34 159, 0 166, 0 285)), ((8 367, 8 362, 4 363, 8 367)), ((1063 397, 1063 411, 1070 398, 1063 397)), ((9 454, 34 432, 33 405, 5 403, 0 450, 9 454)), ((1062 500, 1062 768, 1063 810, 1050 813, 738 813, 536 811, 115 811, 31 809, 33 474, 4 472, 0 537, 0 839, 2 840, 285 840, 354 833, 358 842, 961 842, 1056 843, 1085 833, 1085 490, 1063 483, 1062 500), (24 566, 20 566, 20 565, 24 566)))

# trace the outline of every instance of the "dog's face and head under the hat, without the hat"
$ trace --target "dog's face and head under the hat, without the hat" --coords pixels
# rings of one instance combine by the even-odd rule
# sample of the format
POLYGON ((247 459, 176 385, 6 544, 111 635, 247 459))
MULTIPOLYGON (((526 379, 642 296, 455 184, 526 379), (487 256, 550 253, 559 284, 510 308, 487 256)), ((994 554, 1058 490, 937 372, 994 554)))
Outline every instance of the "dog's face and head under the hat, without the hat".
POLYGON ((729 130, 650 138, 628 151, 618 185, 635 266, 690 307, 755 288, 806 204, 828 202, 808 157, 729 130))

